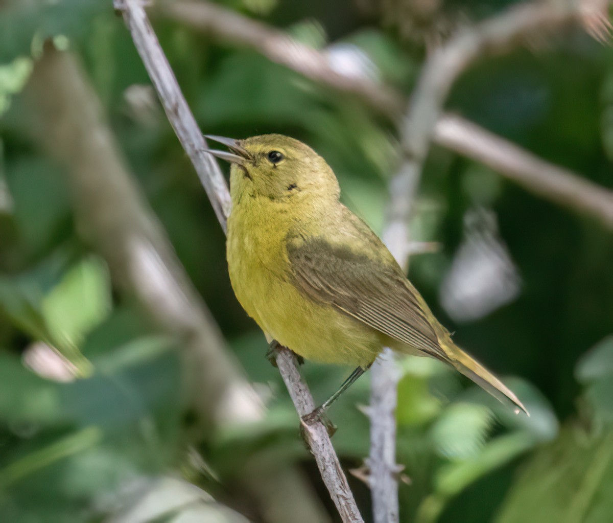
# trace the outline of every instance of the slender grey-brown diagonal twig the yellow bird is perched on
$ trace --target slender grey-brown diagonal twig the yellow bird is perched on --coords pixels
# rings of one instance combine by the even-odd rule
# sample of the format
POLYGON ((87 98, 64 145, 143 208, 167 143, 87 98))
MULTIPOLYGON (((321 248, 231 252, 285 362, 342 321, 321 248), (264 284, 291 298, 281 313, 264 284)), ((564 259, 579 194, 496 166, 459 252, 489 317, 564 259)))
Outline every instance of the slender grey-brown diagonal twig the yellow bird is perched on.
MULTIPOLYGON (((124 21, 132 34, 132 39, 134 39, 154 87, 158 91, 166 114, 173 128, 177 131, 181 144, 183 144, 194 167, 199 172, 203 185, 211 188, 212 193, 207 189, 211 202, 214 205, 215 202, 224 203, 224 205, 218 206, 219 209, 224 211, 223 215, 218 212, 219 221, 224 225, 229 212, 229 205, 225 203, 230 201, 226 184, 223 182, 223 177, 220 183, 210 184, 208 181, 208 177, 217 179, 219 168, 215 160, 204 153, 206 147, 204 139, 200 135, 200 130, 197 128, 177 80, 170 69, 153 28, 151 28, 142 3, 139 0, 121 0, 116 2, 115 7, 123 11, 124 21), (196 134, 200 136, 198 141, 196 141, 196 134), (197 149, 197 147, 201 147, 201 149, 197 149)), ((300 377, 294 355, 287 350, 276 351, 276 363, 300 416, 310 413, 315 408, 315 404, 307 385, 300 377)), ((326 427, 318 422, 307 427, 304 433, 311 452, 313 452, 318 463, 321 477, 343 518, 343 522, 362 522, 362 517, 338 462, 326 427)))

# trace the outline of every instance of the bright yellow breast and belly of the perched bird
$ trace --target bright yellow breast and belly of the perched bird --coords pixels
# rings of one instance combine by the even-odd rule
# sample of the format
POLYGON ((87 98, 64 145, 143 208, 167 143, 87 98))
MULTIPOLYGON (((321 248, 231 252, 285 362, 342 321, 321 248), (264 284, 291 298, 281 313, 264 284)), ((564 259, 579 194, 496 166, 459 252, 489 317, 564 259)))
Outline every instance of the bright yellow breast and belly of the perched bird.
POLYGON ((294 287, 283 238, 275 241, 275 231, 243 231, 237 217, 232 218, 227 240, 230 281, 240 304, 268 337, 308 360, 355 366, 373 362, 381 351, 380 335, 294 287))

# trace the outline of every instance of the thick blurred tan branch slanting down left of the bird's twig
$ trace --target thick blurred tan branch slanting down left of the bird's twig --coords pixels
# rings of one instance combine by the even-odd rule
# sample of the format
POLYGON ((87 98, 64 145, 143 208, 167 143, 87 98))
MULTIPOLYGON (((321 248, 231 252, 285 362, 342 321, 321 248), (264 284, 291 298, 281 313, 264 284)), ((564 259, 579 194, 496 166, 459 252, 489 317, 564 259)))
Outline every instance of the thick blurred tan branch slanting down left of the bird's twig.
POLYGON ((206 425, 261 419, 264 408, 229 357, 210 312, 130 179, 96 93, 72 56, 47 45, 26 88, 36 138, 67 167, 78 226, 163 330, 183 341, 194 408, 206 425))

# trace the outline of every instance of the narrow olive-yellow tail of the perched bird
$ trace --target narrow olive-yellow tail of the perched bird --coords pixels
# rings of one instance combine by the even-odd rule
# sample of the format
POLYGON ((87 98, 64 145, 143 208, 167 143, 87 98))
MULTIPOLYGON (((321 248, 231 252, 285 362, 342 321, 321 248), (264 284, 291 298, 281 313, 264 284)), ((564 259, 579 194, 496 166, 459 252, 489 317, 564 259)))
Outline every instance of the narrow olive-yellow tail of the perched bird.
MULTIPOLYGON (((466 378, 473 380, 479 387, 489 392, 497 400, 504 403, 504 399, 506 398, 512 401, 518 409, 522 409, 527 416, 530 416, 524 404, 519 401, 519 398, 517 398, 512 390, 481 365, 481 363, 462 351, 460 347, 451 341, 451 336, 445 332, 443 336, 439 335, 438 338, 441 349, 443 349, 441 352, 444 352, 444 355, 440 353, 436 354, 436 358, 453 365, 464 374, 466 378)), ((519 410, 517 412, 519 412, 519 410)))

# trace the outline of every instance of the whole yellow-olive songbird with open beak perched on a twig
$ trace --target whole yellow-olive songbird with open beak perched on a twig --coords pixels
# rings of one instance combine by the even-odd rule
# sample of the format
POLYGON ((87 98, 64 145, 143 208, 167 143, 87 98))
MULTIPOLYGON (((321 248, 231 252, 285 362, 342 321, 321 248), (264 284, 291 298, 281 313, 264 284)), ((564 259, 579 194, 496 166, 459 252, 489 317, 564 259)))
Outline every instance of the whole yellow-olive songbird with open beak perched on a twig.
POLYGON ((230 152, 230 281, 245 311, 273 340, 319 362, 357 365, 321 408, 354 382, 383 347, 449 363, 497 398, 524 405, 457 347, 392 254, 339 201, 326 161, 302 142, 266 134, 207 138, 230 152))

